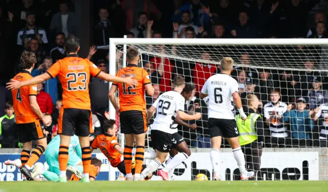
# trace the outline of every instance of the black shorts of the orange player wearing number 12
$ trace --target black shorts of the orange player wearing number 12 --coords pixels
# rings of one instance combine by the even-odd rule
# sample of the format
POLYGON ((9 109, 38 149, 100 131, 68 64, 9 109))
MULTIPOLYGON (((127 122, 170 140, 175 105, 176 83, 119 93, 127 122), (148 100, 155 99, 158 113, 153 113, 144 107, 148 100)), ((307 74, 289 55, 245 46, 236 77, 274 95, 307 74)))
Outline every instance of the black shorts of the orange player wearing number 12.
POLYGON ((119 115, 120 129, 123 134, 143 134, 147 132, 146 112, 123 111, 119 115))

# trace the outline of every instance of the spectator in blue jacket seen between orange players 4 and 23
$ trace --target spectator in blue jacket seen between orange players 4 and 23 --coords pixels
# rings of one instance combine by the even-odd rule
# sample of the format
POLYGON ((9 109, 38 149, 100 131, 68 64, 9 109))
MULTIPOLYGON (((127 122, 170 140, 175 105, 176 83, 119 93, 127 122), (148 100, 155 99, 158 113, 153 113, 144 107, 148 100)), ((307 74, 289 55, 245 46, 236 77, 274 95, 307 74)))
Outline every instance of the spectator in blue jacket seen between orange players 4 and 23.
MULTIPOLYGON (((38 76, 40 74, 46 73, 46 71, 52 66, 52 58, 46 57, 44 62, 37 68, 32 71, 32 76, 38 76)), ((52 102, 55 105, 58 97, 58 79, 50 78, 44 82, 44 91, 51 96, 52 102)))

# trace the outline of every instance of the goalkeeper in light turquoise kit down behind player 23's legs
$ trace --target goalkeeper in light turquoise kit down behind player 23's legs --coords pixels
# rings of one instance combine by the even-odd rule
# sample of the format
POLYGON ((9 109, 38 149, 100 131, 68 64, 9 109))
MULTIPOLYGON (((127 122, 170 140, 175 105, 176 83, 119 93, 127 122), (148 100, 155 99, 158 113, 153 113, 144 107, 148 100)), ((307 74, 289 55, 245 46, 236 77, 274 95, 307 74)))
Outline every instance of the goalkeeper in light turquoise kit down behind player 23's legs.
MULTIPOLYGON (((59 145, 60 145, 60 137, 59 135, 57 135, 50 141, 50 143, 48 144, 48 148, 45 152, 46 161, 49 166, 48 170, 41 169, 39 166, 34 166, 32 172, 32 178, 36 178, 39 175, 43 175, 48 181, 56 181, 58 179, 59 145)), ((5 164, 19 167, 22 164, 22 162, 20 162, 19 159, 16 159, 14 161, 11 160, 5 161, 5 164)), ((83 166, 81 166, 83 165, 81 160, 81 147, 79 145, 79 140, 76 135, 74 135, 70 141, 68 165, 76 166, 78 170, 83 172, 83 166)))

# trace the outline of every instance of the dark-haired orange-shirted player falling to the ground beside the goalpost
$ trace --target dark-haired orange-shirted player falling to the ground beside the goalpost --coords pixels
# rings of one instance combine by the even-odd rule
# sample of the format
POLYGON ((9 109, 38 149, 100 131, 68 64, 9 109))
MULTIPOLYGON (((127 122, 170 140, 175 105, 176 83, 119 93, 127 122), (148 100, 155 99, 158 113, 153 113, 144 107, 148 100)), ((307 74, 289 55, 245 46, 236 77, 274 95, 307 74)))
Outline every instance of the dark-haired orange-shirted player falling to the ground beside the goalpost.
MULTIPOLYGON (((99 148, 101 152, 107 157, 113 167, 117 167, 118 170, 126 175, 125 162, 122 154, 124 149, 118 144, 115 136, 117 126, 115 120, 106 119, 103 124, 104 134, 98 135, 91 144, 91 153, 93 150, 99 148)), ((132 168, 132 167, 131 167, 132 168)), ((145 166, 143 166, 145 168, 145 166)), ((132 169, 132 175, 135 173, 135 168, 132 169)), ((148 179, 152 177, 149 174, 148 179)))

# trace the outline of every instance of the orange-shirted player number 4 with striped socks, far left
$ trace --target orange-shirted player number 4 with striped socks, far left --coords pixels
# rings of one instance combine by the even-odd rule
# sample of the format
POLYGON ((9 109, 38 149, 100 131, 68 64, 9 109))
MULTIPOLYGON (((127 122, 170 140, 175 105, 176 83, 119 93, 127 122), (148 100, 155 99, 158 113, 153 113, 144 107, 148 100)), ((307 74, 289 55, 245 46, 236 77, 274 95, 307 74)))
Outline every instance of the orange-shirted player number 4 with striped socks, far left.
MULTIPOLYGON (((20 62, 22 62, 23 71, 13 79, 17 81, 32 79, 31 71, 34 63, 36 63, 34 53, 24 51, 20 56, 20 62)), ((13 90, 12 99, 17 123, 17 135, 19 142, 23 143, 23 151, 20 155, 22 165, 19 170, 28 180, 34 180, 30 169, 46 151, 47 138, 44 125, 49 126, 51 124, 51 116, 45 116, 36 102, 36 84, 13 90), (36 141, 36 147, 30 156, 33 140, 36 141)))

